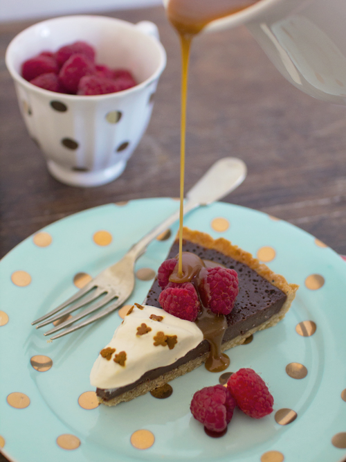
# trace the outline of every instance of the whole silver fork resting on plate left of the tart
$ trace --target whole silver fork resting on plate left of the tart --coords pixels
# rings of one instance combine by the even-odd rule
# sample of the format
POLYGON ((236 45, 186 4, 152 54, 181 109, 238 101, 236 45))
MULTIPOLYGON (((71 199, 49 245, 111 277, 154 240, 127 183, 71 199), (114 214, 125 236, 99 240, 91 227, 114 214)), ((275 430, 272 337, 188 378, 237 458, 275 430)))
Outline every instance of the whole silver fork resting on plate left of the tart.
MULTIPOLYGON (((188 213, 192 209, 201 205, 208 205, 221 199, 231 191, 235 190, 239 184, 242 184, 246 177, 246 165, 240 159, 235 157, 225 157, 215 162, 206 172, 197 184, 195 184, 187 193, 183 213, 188 213)), ((69 334, 84 326, 87 326, 98 319, 107 316, 107 314, 119 308, 134 290, 134 264, 136 260, 144 254, 147 245, 160 233, 166 231, 176 220, 179 219, 179 210, 174 212, 164 222, 156 226, 152 231, 147 233, 142 239, 134 244, 127 254, 121 258, 115 265, 104 269, 98 276, 93 278, 88 284, 80 289, 76 294, 67 299, 64 303, 57 306, 54 310, 33 321, 38 324, 36 328, 41 328, 49 323, 59 321, 68 316, 71 312, 82 308, 88 303, 94 302, 87 308, 75 314, 75 316, 60 322, 54 328, 44 332, 44 335, 51 335, 57 330, 66 328, 60 334, 54 335, 51 339, 57 339, 63 335, 69 334), (113 301, 113 303, 111 303, 113 301), (75 303, 76 302, 76 303, 75 303), (109 306, 106 306, 109 304, 109 306), (71 305, 73 304, 73 305, 71 305), (71 306, 69 306, 71 305, 71 306), (105 307, 103 310, 87 318, 86 320, 71 326, 75 321, 79 321, 95 310, 105 307), (66 308, 64 310, 64 308, 66 308), (63 310, 63 311, 62 311, 63 310), (57 314, 59 313, 60 314, 57 314), (43 321, 43 322, 42 322, 43 321), (67 328, 71 326, 70 328, 67 328)))

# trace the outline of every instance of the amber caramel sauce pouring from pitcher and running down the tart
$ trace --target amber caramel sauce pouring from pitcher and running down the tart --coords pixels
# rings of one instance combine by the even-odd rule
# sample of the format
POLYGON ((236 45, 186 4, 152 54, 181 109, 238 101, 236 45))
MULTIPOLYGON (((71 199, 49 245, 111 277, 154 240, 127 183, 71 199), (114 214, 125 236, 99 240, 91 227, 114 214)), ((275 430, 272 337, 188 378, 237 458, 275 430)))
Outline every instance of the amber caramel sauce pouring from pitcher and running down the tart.
MULTIPOLYGON (((192 282, 199 294, 198 283, 203 261, 196 260, 194 254, 183 253, 183 200, 185 181, 185 137, 186 137, 186 104, 188 96, 188 66, 190 60, 191 42, 195 35, 215 19, 233 15, 244 10, 259 0, 170 0, 167 6, 167 17, 179 34, 181 42, 181 146, 180 146, 180 212, 179 212, 179 255, 177 268, 170 276, 170 281, 176 283, 192 282), (194 257, 192 258, 191 257, 194 257)), ((198 257, 197 257, 198 258, 198 257)), ((199 294, 199 298, 201 296, 199 294)), ((201 301, 202 302, 202 301, 201 301)), ((203 337, 209 341, 210 356, 206 368, 211 372, 224 371, 230 364, 230 359, 221 353, 221 342, 227 328, 223 314, 217 315, 201 303, 197 326, 203 332, 203 337)))

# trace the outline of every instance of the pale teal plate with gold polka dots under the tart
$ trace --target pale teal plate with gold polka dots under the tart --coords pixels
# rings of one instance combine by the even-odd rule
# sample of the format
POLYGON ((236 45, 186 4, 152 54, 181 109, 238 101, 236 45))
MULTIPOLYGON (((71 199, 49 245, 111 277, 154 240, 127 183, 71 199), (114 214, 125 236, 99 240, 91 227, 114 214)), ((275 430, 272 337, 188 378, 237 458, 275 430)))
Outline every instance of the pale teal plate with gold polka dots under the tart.
MULTIPOLYGON (((93 391, 89 384, 91 366, 121 322, 118 312, 51 343, 42 330, 36 330, 30 323, 75 292, 76 274, 95 276, 116 262, 177 206, 173 199, 163 198, 92 208, 42 230, 52 238, 46 247, 35 245, 37 236, 32 236, 1 260, 0 446, 8 459, 16 462, 343 460, 346 265, 334 251, 295 226, 221 202, 190 213, 185 219, 186 226, 215 238, 224 236, 254 255, 258 251, 259 255, 268 255, 271 259, 268 266, 273 271, 300 285, 284 321, 257 332, 251 343, 229 350, 228 371, 251 367, 260 373, 274 396, 274 412, 255 420, 235 411, 227 434, 210 438, 189 410, 197 389, 219 381, 219 374, 208 373, 203 366, 174 380, 172 396, 164 400, 148 393, 113 408, 83 409, 78 404, 82 393, 93 391), (213 230, 212 220, 217 217, 229 224, 226 231, 213 230), (100 230, 111 233, 108 245, 93 241, 100 230), (19 283, 26 285, 16 285, 16 276, 26 274, 30 275, 27 280, 19 277, 19 283), (316 332, 309 337, 298 335, 295 328, 302 321, 316 323, 316 332), (30 364, 35 355, 50 357, 53 366, 46 372, 35 370, 30 364), (288 375, 286 366, 291 363, 302 364, 307 375, 302 379, 288 375), (30 404, 24 409, 12 407, 8 404, 11 393, 24 393, 30 404), (292 423, 280 425, 275 421, 275 413, 280 409, 291 409, 298 416, 292 423), (146 450, 131 445, 131 434, 138 429, 154 434, 154 444, 146 450), (74 441, 80 445, 74 450, 60 447, 59 437, 65 434, 75 436, 74 441)), ((170 239, 152 242, 138 260, 136 270, 156 271, 176 230, 177 225, 172 227, 170 239)), ((134 294, 127 303, 141 303, 151 283, 137 279, 134 294)))

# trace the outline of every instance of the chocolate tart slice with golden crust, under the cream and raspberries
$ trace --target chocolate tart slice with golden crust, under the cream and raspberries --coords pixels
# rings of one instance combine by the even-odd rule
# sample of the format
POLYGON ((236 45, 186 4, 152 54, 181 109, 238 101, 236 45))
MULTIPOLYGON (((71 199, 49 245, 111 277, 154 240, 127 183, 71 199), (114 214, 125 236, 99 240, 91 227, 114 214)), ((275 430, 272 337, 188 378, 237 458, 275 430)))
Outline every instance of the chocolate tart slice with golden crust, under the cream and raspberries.
MULTIPOLYGON (((289 310, 298 290, 298 285, 287 283, 283 276, 275 274, 251 254, 224 238, 213 240, 206 233, 184 228, 183 251, 196 254, 206 265, 221 265, 235 269, 238 274, 239 294, 234 308, 226 317, 222 315, 224 335, 221 334, 220 337, 221 351, 243 344, 257 330, 275 326, 289 310)), ((167 258, 175 258, 178 253, 179 243, 176 241, 167 258)), ((161 308, 158 303, 160 293, 161 287, 155 280, 147 294, 145 305, 161 308)), ((162 312, 166 314, 163 310, 162 312)), ((205 335, 204 339, 201 337, 197 346, 171 364, 154 368, 149 366, 143 375, 130 383, 116 388, 100 388, 96 385, 98 400, 104 405, 114 406, 161 387, 206 362, 210 358, 211 347, 212 342, 210 339, 207 340, 205 335)))

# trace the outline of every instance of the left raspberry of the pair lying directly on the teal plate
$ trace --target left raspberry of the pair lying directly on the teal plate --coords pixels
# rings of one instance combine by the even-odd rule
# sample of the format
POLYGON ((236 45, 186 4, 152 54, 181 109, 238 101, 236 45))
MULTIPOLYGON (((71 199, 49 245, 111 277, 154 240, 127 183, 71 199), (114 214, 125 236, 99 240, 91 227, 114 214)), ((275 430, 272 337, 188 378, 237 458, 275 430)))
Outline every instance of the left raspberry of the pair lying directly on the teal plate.
POLYGON ((205 387, 191 401, 192 416, 212 432, 223 432, 233 417, 236 402, 228 389, 222 385, 205 387))

